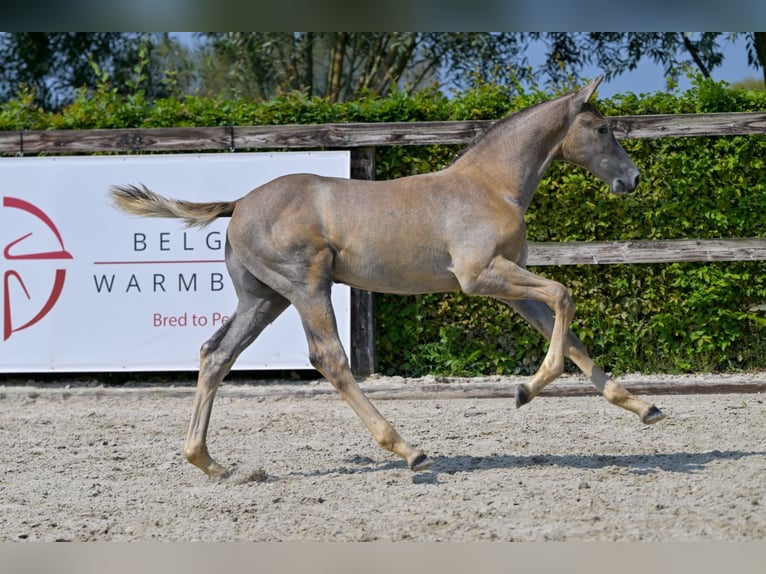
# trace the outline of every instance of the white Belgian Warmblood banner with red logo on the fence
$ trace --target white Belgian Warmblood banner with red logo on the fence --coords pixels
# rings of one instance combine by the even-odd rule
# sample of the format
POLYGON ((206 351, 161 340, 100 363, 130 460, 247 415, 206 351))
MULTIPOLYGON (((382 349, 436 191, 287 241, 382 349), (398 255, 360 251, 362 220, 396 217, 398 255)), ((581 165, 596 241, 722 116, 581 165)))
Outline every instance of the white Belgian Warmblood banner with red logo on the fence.
MULTIPOLYGON (((236 307, 228 218, 185 229, 124 215, 110 185, 191 201, 236 199, 288 173, 349 177, 348 152, 0 159, 0 372, 196 370, 236 307)), ((350 290, 333 289, 348 350, 350 290)), ((310 368, 290 307, 235 368, 310 368)))

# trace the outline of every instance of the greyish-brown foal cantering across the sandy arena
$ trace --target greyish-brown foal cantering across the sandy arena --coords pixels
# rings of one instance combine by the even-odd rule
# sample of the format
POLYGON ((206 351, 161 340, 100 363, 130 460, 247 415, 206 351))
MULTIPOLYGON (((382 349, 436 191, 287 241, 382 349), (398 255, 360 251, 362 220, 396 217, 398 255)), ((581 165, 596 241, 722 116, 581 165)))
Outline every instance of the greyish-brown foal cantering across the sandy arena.
POLYGON ((167 199, 144 187, 113 186, 118 208, 206 225, 231 216, 226 266, 238 304, 202 345, 194 410, 184 449, 211 477, 226 469, 207 449, 216 390, 238 355, 289 305, 300 314, 311 364, 340 392, 378 444, 410 469, 431 464, 362 393, 341 346, 330 302, 333 283, 368 291, 418 294, 462 290, 495 297, 550 340, 539 370, 516 389, 532 400, 569 357, 606 399, 654 423, 664 414, 610 379, 569 329, 567 289, 525 268, 524 214, 553 160, 584 167, 614 193, 640 175, 589 103, 601 78, 580 90, 497 122, 451 166, 390 181, 294 174, 230 202, 167 199))

